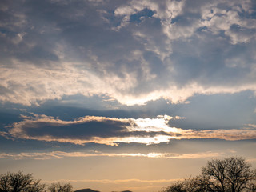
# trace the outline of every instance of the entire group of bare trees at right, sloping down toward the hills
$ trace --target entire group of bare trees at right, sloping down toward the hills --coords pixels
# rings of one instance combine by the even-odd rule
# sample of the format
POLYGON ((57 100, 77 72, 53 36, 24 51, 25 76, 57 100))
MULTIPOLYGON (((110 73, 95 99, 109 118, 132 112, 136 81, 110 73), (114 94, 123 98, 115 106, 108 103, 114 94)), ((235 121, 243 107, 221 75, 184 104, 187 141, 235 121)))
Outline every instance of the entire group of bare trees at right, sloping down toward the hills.
POLYGON ((251 192, 256 191, 256 170, 244 158, 214 159, 202 173, 167 186, 162 192, 251 192))

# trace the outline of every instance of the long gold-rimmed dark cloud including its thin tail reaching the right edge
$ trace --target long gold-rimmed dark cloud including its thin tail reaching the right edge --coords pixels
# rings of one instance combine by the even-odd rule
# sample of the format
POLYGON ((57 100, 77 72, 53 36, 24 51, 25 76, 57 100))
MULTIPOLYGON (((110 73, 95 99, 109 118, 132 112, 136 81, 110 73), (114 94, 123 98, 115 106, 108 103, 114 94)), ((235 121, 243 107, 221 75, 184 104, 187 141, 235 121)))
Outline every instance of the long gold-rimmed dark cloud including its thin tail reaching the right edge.
MULTIPOLYGON (((106 118, 86 116, 73 121, 33 114, 23 116, 21 122, 7 126, 6 138, 33 139, 46 142, 70 142, 84 145, 94 142, 105 145, 118 143, 143 143, 146 145, 169 142, 171 139, 219 138, 224 140, 255 139, 254 129, 183 130, 171 127, 172 117, 158 118, 106 118)), ((175 117, 182 119, 181 117, 175 117)))

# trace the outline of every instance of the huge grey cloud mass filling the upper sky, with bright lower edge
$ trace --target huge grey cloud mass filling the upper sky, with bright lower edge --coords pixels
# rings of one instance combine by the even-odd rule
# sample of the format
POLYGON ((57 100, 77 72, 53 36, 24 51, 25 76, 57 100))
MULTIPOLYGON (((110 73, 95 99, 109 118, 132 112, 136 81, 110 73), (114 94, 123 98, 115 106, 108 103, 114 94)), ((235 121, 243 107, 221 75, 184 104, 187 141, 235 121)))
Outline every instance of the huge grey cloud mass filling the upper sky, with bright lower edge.
POLYGON ((82 94, 141 105, 255 91, 250 0, 6 1, 1 7, 2 102, 29 106, 82 94))

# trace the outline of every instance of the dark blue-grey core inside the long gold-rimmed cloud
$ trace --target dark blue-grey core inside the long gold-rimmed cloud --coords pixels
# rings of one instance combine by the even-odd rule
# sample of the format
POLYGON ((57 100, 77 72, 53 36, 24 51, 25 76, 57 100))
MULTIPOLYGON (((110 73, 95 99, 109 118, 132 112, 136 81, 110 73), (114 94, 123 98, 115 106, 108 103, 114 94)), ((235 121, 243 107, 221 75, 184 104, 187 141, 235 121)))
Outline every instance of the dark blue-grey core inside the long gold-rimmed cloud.
MULTIPOLYGON (((134 123, 133 123, 134 124, 134 123)), ((115 120, 102 120, 102 122, 91 120, 90 122, 78 122, 72 124, 58 124, 58 122, 31 122, 22 126, 24 134, 30 137, 52 136, 54 138, 78 138, 90 140, 94 137, 111 138, 111 137, 154 137, 158 134, 166 134, 163 131, 130 131, 128 126, 130 122, 115 120)), ((137 125, 134 125, 137 126, 137 125)))

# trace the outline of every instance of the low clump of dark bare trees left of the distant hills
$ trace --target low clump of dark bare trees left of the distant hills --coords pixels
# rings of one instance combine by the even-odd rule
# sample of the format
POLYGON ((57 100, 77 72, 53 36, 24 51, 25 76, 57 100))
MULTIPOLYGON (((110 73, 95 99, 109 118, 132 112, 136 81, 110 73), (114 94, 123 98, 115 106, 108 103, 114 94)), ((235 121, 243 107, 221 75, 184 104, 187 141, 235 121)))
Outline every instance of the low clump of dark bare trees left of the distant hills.
POLYGON ((72 192, 70 183, 53 182, 50 186, 35 180, 32 174, 18 173, 1 174, 0 192, 72 192))

